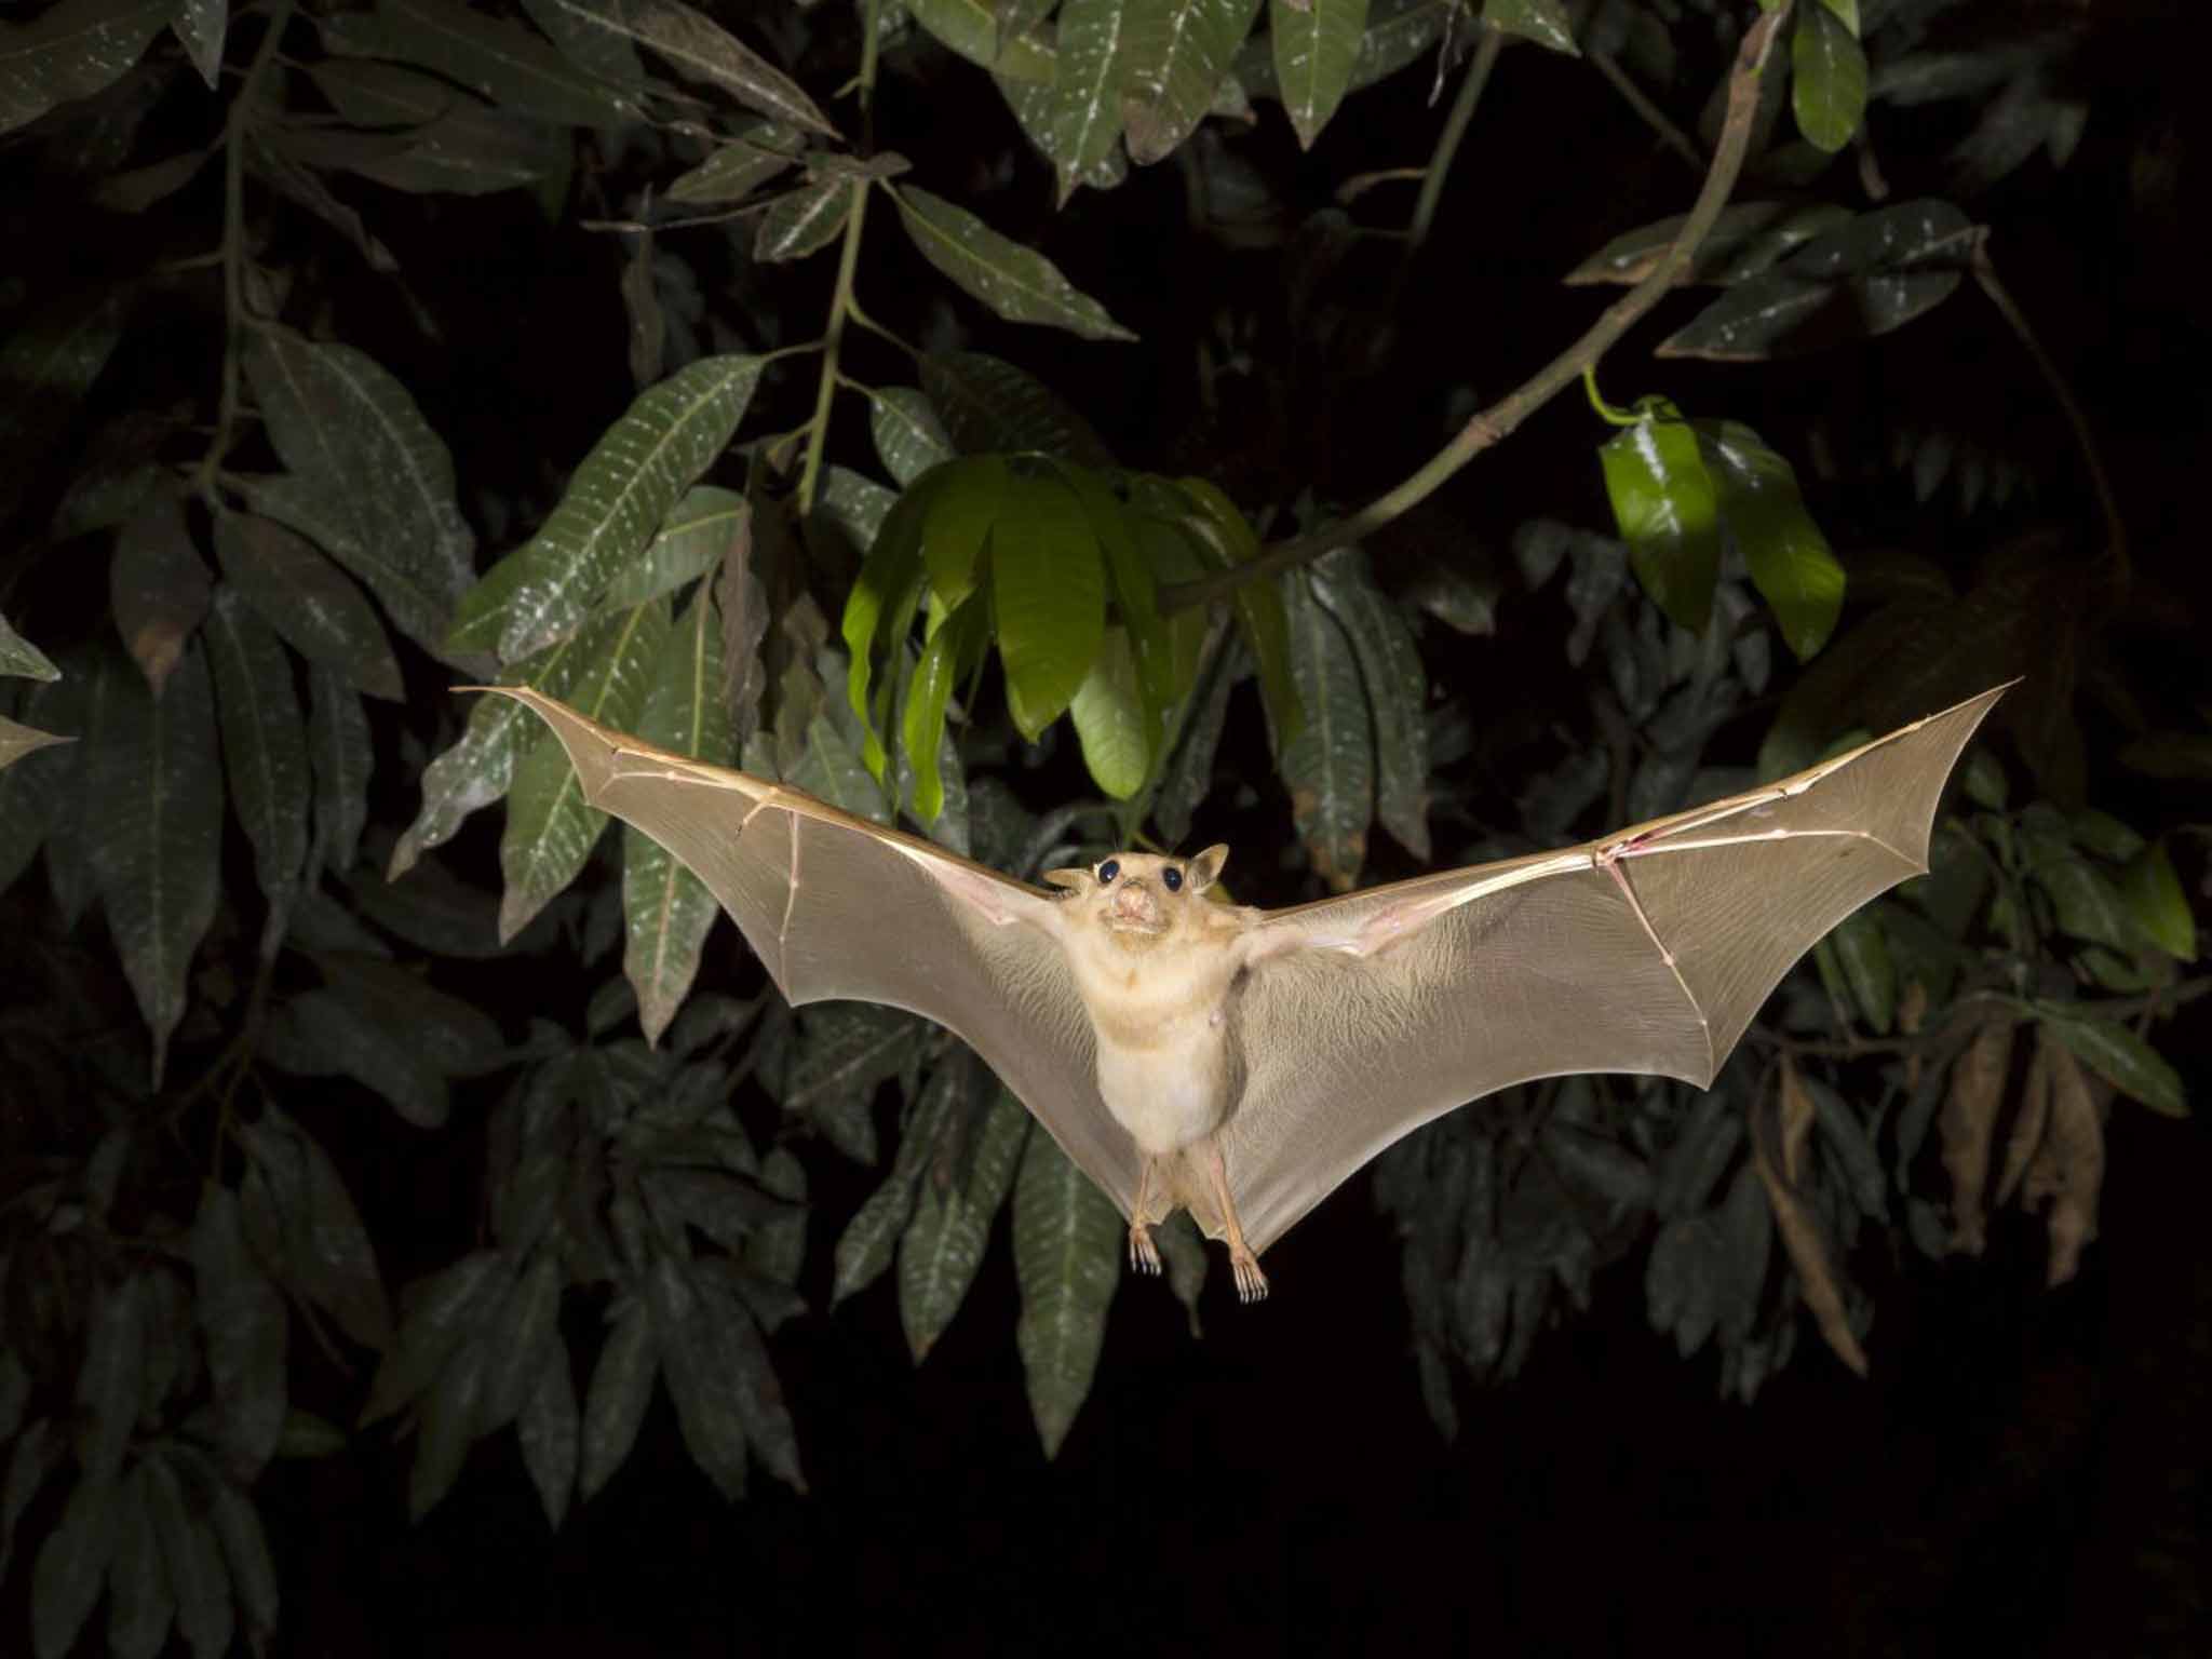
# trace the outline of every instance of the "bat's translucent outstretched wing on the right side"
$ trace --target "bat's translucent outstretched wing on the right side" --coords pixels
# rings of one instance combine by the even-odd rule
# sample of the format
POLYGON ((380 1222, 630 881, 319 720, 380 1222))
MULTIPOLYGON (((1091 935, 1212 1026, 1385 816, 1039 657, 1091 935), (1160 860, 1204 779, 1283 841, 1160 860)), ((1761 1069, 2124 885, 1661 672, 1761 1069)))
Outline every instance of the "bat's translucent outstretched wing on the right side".
POLYGON ((1951 765, 2002 695, 1606 841, 1270 914, 1223 1130, 1252 1248, 1495 1088, 1575 1071, 1708 1086, 1792 962, 1927 869, 1951 765))

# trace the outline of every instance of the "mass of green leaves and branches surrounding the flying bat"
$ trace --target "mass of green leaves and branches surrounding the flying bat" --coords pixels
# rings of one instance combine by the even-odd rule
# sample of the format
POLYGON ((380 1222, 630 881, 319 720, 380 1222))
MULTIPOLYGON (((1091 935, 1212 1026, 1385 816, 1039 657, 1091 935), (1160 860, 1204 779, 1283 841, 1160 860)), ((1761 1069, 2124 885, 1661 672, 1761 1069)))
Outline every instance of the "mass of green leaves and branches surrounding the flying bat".
MULTIPOLYGON (((1942 11, 1798 0, 1790 49, 1734 71, 1747 199, 1590 237, 1566 281, 1635 290, 1697 230, 1679 281, 1719 294, 1659 356, 1767 376, 1953 325, 1969 274, 2008 310, 1962 204, 2068 164, 2093 40, 1962 49, 1942 11), (1869 133, 1909 155, 1891 117, 1920 106, 1964 135, 1909 168, 1929 195, 1829 166, 1869 133)), ((100 228, 91 274, 49 248, 0 290, 0 1573, 20 1546, 33 1650, 102 1597, 117 1652, 170 1628, 261 1650, 257 1482, 372 1425, 411 1436, 416 1517, 513 1429, 557 1526, 661 1391, 717 1491, 754 1464, 799 1486, 776 1329, 896 1296, 927 1363, 1002 1212, 1009 1363, 1046 1453, 1077 1425, 1110 1203, 945 1033, 757 993, 703 887, 604 838, 535 721, 456 708, 456 681, 526 681, 1022 874, 1239 812, 1279 838, 1239 849, 1239 898, 1287 902, 1670 812, 1741 787, 1761 732, 1776 776, 2033 670, 1936 869, 1838 929, 1710 1095, 1511 1091, 1394 1148, 1378 1192, 1442 1425, 1462 1374, 1511 1376, 1630 1252, 1652 1325, 1710 1340, 1741 1398, 1801 1303, 1865 1367, 1849 1256, 1876 1230, 1971 1252, 1991 1206, 2048 1206, 2070 1276, 2115 1095, 2188 1110, 2157 1020, 2201 989, 2201 825, 2090 805, 2088 684, 2121 765, 2212 772, 2201 719, 2108 644, 2117 522, 2066 546, 2024 518, 2037 458, 1942 403, 1885 427, 1887 473, 1816 460, 1801 484, 1785 453, 1836 447, 1818 420, 1785 405, 1761 436, 1661 392, 1599 403, 1621 429, 1597 467, 1533 465, 1577 522, 1460 502, 1444 531, 1442 498, 1405 495, 1365 544, 1327 535, 1376 482, 1329 469, 1332 405, 1475 358, 1391 319, 1431 190, 1400 219, 1380 173, 1298 206, 1267 146, 1334 184, 1347 108, 1455 80, 1422 117, 1440 188, 1504 42, 1504 73, 1595 58, 1694 108, 1743 24, 1644 0, 58 0, 0 24, 9 188, 100 228), (922 113, 962 97, 1004 104, 984 164, 922 113), (1009 177, 1062 217, 1022 219, 1009 177), (1148 299, 1082 234, 1144 192, 1181 223, 1161 270, 1265 274, 1148 299), (438 272, 449 234, 584 272, 626 327, 628 405, 599 409, 613 361, 473 307, 438 272), (546 354, 588 434, 531 407, 546 354), (1117 389, 1186 361, 1188 429, 1133 431, 1117 389), (515 376, 493 409, 487 363, 515 376), (1838 482, 1951 484, 1982 551, 1823 529, 1838 482), (1318 540, 1272 557, 1287 522, 1318 540), (487 562, 480 535, 518 544, 487 562), (1506 675, 1542 703, 1498 712, 1506 675), (467 825, 500 801, 493 894, 467 825), (372 1099, 394 1117, 365 1124, 372 1099), (378 1179, 478 1144, 476 1214, 378 1179), (810 1256, 810 1186, 849 1166, 874 1192, 810 1256)), ((1701 173, 1721 155, 1659 122, 1701 173)), ((1721 409, 1756 396, 1736 376, 1683 385, 1721 409)), ((1398 403, 1389 476, 1489 431, 1464 387, 1398 403)), ((1197 1329, 1206 1254, 1188 1223, 1161 1250, 1197 1329)))

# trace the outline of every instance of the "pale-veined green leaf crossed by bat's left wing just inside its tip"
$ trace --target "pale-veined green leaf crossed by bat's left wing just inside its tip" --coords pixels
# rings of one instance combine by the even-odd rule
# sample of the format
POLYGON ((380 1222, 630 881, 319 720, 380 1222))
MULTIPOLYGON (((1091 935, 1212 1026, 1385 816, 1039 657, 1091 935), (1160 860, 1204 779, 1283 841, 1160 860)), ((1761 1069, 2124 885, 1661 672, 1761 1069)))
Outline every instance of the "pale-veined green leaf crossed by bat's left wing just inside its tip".
MULTIPOLYGON (((582 668, 568 701, 588 719, 628 730, 668 650, 668 602, 608 611, 577 635, 582 668)), ((717 688, 719 695, 719 688, 717 688)), ((568 752, 542 732, 515 765, 500 838, 500 942, 509 942, 584 869, 606 814, 584 801, 568 752)))

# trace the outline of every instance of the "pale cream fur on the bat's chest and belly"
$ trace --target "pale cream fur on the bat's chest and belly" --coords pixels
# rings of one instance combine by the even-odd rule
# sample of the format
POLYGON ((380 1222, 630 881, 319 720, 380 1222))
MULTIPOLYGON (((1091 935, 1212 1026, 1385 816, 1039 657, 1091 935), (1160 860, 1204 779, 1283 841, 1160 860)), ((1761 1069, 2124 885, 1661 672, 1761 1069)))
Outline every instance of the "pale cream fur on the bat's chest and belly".
POLYGON ((1099 1095, 1150 1155, 1175 1152, 1221 1128, 1239 1066, 1221 973, 1146 953, 1077 960, 1077 984, 1097 1033, 1099 1095))

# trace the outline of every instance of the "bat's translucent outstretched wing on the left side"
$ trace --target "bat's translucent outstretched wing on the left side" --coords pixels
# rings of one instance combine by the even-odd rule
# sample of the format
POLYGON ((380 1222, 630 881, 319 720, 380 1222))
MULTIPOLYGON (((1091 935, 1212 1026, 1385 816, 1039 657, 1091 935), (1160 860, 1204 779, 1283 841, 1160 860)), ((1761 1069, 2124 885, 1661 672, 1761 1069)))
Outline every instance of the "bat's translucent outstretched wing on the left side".
POLYGON ((964 1037, 1126 1212, 1137 1152, 1097 1091, 1048 894, 799 790, 670 754, 529 686, 584 799, 697 874, 792 1004, 885 1002, 964 1037))

